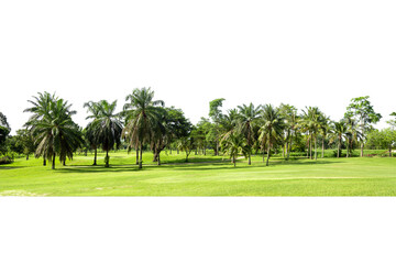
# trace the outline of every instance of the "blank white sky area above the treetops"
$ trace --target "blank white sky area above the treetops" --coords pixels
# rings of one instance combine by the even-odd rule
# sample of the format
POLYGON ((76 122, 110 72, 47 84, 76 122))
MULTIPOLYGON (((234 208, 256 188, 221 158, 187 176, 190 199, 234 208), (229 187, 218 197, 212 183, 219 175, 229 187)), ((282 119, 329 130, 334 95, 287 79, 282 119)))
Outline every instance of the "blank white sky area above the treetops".
POLYGON ((370 96, 396 111, 395 1, 0 1, 0 111, 12 133, 26 100, 82 105, 152 87, 197 122, 209 101, 318 106, 334 120, 370 96))

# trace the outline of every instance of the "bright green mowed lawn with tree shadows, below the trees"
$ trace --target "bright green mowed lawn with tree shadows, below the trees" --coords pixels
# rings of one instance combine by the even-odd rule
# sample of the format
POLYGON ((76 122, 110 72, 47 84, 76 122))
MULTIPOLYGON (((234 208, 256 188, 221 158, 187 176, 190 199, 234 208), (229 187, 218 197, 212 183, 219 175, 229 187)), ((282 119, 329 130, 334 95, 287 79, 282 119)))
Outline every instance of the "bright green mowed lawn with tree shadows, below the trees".
POLYGON ((91 166, 92 155, 77 155, 56 170, 42 158, 16 158, 0 166, 1 196, 396 196, 396 158, 271 160, 253 164, 244 158, 237 168, 223 157, 163 153, 163 165, 144 154, 138 169, 135 154, 110 153, 110 168, 91 166))

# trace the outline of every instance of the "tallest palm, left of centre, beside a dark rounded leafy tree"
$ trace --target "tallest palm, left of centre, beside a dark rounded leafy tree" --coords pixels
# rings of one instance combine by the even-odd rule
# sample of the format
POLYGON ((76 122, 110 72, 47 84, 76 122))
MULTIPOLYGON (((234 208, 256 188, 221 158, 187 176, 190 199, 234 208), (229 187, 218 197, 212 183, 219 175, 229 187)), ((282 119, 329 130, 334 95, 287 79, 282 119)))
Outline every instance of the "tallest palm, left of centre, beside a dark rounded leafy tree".
MULTIPOLYGON (((134 89, 127 96, 129 101, 123 109, 127 116, 127 125, 122 132, 123 138, 130 140, 131 146, 140 148, 139 168, 142 168, 143 144, 150 143, 153 138, 153 131, 158 127, 162 113, 165 111, 164 101, 153 100, 154 91, 151 88, 134 89)), ((138 157, 138 153, 136 153, 138 157)))

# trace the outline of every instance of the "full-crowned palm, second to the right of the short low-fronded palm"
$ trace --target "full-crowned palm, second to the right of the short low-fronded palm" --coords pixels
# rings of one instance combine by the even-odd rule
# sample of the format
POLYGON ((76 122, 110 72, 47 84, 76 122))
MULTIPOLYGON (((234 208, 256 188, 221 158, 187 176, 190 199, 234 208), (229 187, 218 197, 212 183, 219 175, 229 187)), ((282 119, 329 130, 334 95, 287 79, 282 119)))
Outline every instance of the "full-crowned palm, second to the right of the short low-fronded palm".
POLYGON ((260 140, 267 146, 266 166, 270 162, 270 153, 273 144, 282 139, 285 128, 284 119, 278 109, 274 109, 272 105, 265 105, 262 111, 263 125, 260 129, 260 140))

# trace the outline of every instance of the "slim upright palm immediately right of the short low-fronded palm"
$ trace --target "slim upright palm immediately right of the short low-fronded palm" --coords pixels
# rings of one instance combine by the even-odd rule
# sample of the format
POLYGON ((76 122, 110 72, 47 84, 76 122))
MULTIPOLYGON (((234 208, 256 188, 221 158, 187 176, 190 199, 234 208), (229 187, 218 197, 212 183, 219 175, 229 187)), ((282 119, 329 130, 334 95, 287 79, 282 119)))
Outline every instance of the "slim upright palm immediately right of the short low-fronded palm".
POLYGON ((252 146, 254 141, 257 140, 254 138, 254 127, 256 125, 256 121, 260 117, 261 106, 255 108, 253 103, 250 103, 249 106, 243 105, 238 108, 240 110, 238 131, 246 139, 248 164, 251 165, 252 146))

